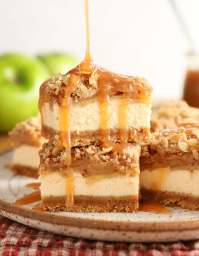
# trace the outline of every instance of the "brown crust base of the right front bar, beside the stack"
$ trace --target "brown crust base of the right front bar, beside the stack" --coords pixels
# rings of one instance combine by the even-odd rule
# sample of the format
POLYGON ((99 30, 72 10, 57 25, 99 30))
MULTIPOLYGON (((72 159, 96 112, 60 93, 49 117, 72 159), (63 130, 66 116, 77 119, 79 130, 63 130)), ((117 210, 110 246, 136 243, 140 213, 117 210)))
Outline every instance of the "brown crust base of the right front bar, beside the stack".
POLYGON ((176 192, 157 192, 144 188, 141 189, 141 193, 143 201, 155 198, 163 205, 180 206, 188 210, 199 210, 199 196, 176 192))

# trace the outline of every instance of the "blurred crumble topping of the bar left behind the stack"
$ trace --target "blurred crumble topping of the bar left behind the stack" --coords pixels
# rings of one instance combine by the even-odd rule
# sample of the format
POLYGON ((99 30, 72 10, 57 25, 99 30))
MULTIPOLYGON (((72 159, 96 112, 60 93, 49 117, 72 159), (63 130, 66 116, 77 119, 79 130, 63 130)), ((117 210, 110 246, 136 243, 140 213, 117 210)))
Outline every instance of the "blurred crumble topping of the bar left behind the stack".
POLYGON ((14 147, 19 147, 23 144, 42 147, 45 139, 42 137, 40 115, 17 123, 14 129, 10 131, 9 136, 14 147))

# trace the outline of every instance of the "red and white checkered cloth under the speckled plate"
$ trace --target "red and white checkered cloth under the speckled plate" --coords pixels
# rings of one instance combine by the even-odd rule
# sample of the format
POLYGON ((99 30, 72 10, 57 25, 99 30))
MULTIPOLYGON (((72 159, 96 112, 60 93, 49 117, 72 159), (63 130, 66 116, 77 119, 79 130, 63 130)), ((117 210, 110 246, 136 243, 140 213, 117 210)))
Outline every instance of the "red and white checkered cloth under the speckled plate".
POLYGON ((88 241, 42 232, 0 216, 0 255, 196 256, 199 241, 149 244, 88 241))

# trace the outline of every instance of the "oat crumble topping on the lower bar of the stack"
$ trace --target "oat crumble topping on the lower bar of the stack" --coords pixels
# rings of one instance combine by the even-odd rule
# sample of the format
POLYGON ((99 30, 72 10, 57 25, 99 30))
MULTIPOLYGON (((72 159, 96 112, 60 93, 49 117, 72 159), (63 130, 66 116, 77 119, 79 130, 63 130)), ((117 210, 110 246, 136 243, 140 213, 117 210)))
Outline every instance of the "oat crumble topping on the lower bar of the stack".
MULTIPOLYGON (((122 152, 113 152, 112 148, 102 146, 82 146, 74 147, 71 150, 73 160, 86 160, 96 163, 111 163, 118 165, 120 172, 125 172, 127 165, 133 167, 139 163, 139 146, 130 146, 122 152)), ((45 169, 48 164, 53 166, 66 166, 66 152, 64 147, 55 147, 53 144, 44 143, 42 150, 39 151, 40 168, 45 169)))

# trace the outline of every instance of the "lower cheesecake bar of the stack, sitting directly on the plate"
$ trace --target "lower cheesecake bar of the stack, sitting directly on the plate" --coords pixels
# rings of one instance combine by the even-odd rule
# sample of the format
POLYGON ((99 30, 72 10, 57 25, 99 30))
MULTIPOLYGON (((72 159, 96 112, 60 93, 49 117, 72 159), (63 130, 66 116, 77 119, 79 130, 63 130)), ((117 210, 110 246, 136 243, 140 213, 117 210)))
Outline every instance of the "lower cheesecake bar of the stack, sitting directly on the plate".
POLYGON ((102 146, 74 147, 70 168, 64 147, 45 143, 39 154, 44 210, 138 211, 139 146, 121 152, 102 146))

